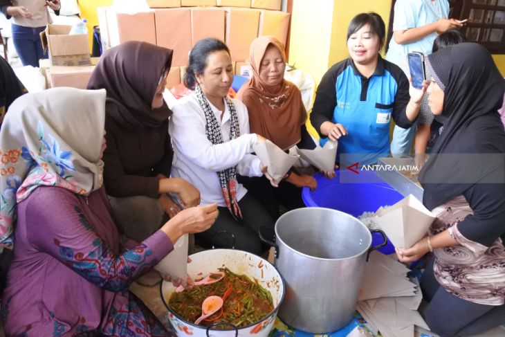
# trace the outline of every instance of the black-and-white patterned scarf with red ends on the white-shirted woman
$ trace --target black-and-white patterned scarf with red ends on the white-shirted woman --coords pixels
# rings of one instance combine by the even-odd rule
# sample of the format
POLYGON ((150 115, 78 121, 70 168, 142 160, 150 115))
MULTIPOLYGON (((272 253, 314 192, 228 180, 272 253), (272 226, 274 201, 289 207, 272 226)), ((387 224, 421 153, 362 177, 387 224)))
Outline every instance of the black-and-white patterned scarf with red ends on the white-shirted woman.
MULTIPOLYGON (((195 93, 200 107, 205 113, 205 120, 207 122, 205 125, 205 134, 207 135, 208 140, 210 140, 210 143, 214 145, 224 143, 219 122, 217 122, 216 116, 210 108, 209 102, 205 98, 205 95, 203 95, 203 91, 199 85, 196 86, 195 93)), ((240 136, 239 118, 237 117, 237 111, 235 111, 235 104, 233 104, 232 100, 230 100, 228 96, 226 96, 226 104, 228 104, 228 109, 230 110, 230 140, 232 140, 240 136)), ((219 171, 217 172, 217 176, 219 176, 219 184, 221 185, 221 192, 223 193, 226 207, 228 207, 228 210, 230 210, 230 213, 235 219, 241 219, 242 212, 237 201, 236 168, 237 166, 233 166, 227 168, 226 170, 219 171)))

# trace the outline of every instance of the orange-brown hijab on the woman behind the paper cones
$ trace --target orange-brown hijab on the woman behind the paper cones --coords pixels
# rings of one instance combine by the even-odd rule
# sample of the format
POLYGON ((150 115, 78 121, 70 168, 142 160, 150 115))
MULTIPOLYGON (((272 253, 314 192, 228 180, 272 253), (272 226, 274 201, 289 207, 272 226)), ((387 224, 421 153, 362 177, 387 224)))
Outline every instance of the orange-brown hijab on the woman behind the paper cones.
POLYGON ((283 80, 277 86, 268 86, 259 78, 259 66, 270 44, 279 49, 286 63, 284 46, 279 40, 271 36, 255 39, 249 50, 252 78, 241 87, 237 98, 249 111, 250 131, 268 138, 281 149, 288 149, 300 142, 300 126, 307 113, 295 84, 283 80))

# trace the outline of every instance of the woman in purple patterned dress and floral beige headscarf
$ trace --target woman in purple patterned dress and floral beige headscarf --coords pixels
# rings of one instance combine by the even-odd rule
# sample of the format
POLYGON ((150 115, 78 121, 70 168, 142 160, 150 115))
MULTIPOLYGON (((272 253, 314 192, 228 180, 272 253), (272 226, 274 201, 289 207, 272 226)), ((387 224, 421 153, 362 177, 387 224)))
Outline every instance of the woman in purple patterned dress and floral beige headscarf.
POLYGON ((0 133, 1 245, 13 248, 1 313, 8 336, 170 336, 128 286, 217 205, 178 213, 120 252, 102 185, 104 90, 28 93, 0 133))

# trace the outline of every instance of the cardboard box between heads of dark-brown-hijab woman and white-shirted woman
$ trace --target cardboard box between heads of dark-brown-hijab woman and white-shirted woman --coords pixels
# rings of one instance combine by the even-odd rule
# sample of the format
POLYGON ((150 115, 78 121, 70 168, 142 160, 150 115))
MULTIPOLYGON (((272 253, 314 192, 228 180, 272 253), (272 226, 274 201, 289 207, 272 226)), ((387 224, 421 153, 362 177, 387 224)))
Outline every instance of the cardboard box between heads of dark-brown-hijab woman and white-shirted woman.
POLYGON ((172 49, 172 66, 185 66, 191 44, 191 9, 167 8, 154 10, 156 42, 158 46, 172 49))

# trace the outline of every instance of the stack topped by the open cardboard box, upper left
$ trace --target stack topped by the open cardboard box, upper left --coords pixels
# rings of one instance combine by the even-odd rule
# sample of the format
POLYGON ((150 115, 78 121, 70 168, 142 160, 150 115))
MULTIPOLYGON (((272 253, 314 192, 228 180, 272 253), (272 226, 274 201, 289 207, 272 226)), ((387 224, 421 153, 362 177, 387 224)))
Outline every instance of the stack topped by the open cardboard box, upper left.
POLYGON ((41 33, 42 44, 48 49, 49 59, 40 60, 40 71, 47 87, 72 86, 86 89, 96 59, 89 56, 86 34, 68 35, 72 26, 49 24, 41 33))

